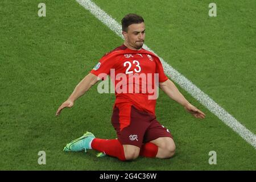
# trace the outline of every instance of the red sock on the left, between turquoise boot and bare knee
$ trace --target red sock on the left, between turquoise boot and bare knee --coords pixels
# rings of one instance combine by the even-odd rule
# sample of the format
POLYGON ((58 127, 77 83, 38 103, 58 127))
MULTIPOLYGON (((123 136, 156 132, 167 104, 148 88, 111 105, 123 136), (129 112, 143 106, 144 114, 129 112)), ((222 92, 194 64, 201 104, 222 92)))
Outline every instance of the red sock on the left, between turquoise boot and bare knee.
POLYGON ((106 140, 94 138, 91 146, 92 149, 104 152, 106 155, 113 156, 119 160, 126 160, 123 146, 117 139, 106 140))

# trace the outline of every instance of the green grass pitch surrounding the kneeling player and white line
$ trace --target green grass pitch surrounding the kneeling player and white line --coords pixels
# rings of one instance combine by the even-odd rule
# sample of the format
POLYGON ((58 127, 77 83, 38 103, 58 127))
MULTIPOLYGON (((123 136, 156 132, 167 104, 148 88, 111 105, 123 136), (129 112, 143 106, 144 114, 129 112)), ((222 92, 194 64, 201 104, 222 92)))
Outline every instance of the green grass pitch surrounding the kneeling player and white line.
MULTIPOLYGON (((143 16, 146 44, 242 125, 256 133, 255 1, 94 1, 118 22, 143 16)), ((115 138, 114 94, 97 85, 55 112, 105 52, 123 40, 75 0, 0 1, 1 170, 255 170, 255 148, 178 88, 207 114, 193 118, 160 91, 156 117, 174 135, 174 158, 120 162, 96 151, 65 153, 70 140, 90 131, 115 138), (46 4, 46 17, 38 4, 46 4), (46 165, 38 152, 46 152, 46 165), (208 163, 209 151, 217 164, 208 163)))

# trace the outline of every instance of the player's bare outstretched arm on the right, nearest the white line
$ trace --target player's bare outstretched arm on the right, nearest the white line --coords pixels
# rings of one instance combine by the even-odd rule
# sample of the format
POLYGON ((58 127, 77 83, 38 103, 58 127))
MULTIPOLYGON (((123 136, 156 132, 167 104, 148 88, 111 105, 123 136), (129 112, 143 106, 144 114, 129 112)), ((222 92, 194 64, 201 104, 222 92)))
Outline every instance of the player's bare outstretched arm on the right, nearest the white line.
POLYGON ((183 94, 181 94, 175 86, 174 82, 168 79, 164 82, 160 82, 159 87, 163 90, 164 93, 167 94, 167 96, 182 105, 185 110, 194 115, 196 118, 205 118, 205 114, 201 110, 197 109, 185 99, 183 94))

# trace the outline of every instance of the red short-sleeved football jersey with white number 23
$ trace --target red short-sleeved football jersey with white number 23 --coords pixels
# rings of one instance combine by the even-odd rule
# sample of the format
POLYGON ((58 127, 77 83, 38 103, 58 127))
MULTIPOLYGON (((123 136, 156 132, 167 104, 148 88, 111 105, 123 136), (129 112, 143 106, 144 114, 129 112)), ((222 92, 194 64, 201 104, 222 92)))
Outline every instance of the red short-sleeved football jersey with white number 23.
POLYGON ((150 96, 157 94, 152 93, 153 89, 156 91, 155 81, 168 80, 162 63, 154 53, 143 48, 139 51, 132 50, 125 45, 106 53, 90 73, 102 80, 110 75, 115 88, 114 106, 134 105, 137 109, 154 115, 157 97, 150 96))

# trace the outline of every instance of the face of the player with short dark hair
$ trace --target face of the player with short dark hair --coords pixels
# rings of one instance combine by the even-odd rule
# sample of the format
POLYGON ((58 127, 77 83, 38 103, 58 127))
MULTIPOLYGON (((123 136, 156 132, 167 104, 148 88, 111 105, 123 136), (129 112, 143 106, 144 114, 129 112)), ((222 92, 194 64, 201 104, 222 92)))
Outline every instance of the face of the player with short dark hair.
POLYGON ((128 27, 127 34, 126 34, 126 41, 131 47, 135 49, 141 49, 144 44, 144 39, 145 39, 144 23, 131 24, 128 27))

